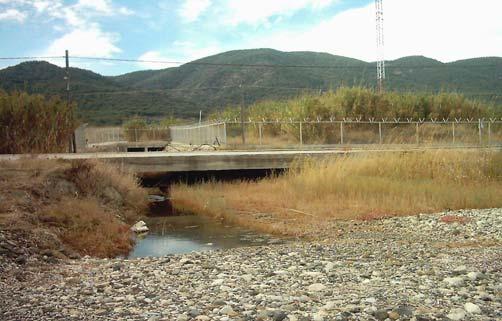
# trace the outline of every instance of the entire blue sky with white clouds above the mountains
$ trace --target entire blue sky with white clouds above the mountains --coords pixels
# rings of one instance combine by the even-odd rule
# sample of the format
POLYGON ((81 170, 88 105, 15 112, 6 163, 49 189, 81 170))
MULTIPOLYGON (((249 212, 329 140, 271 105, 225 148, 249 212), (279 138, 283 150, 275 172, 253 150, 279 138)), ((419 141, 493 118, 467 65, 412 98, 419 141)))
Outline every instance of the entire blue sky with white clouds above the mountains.
MULTIPOLYGON (((502 56, 502 0, 383 0, 385 58, 502 56)), ((0 57, 188 62, 273 48, 377 58, 373 0, 0 0, 0 57)), ((50 60, 62 65, 62 60, 50 60)), ((0 68, 19 63, 0 60, 0 68)), ((70 59, 117 75, 179 63, 70 59)))

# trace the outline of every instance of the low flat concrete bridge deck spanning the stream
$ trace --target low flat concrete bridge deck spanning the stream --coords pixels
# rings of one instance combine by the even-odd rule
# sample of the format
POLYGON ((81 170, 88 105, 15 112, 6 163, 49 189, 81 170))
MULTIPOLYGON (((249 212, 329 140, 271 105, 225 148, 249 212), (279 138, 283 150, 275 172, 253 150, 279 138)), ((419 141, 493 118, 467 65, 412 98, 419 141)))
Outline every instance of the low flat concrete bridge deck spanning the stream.
MULTIPOLYGON (((440 147, 435 147, 440 148, 440 147)), ((357 150, 280 150, 280 151, 197 151, 197 152, 139 152, 139 153, 77 153, 0 155, 2 160, 19 159, 99 159, 142 173, 169 173, 190 171, 284 169, 298 158, 325 158, 344 154, 411 152, 424 147, 399 149, 357 150)), ((427 148, 427 149, 430 149, 427 148)), ((450 148, 451 149, 451 148, 450 148)), ((459 147, 458 149, 466 149, 459 147)), ((492 148, 493 149, 493 148, 492 148)), ((500 149, 500 147, 498 147, 500 149)))

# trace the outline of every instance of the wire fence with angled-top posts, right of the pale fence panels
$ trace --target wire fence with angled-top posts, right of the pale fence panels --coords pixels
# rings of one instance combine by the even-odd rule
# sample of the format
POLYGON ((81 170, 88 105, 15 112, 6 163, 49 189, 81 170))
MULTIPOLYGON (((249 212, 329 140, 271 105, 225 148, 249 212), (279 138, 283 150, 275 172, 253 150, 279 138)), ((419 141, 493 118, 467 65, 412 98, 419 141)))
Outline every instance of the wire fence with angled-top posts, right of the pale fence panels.
POLYGON ((301 145, 501 145, 502 121, 227 122, 228 147, 301 145))

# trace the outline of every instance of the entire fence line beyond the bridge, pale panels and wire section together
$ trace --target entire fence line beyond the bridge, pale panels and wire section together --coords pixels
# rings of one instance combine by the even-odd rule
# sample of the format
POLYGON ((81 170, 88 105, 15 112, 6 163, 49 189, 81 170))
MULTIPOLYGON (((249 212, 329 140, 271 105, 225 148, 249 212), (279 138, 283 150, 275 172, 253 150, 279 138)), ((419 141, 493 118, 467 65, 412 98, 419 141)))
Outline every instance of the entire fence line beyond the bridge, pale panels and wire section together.
POLYGON ((222 121, 187 126, 85 129, 88 145, 164 142, 232 148, 334 145, 502 145, 502 121, 222 121))

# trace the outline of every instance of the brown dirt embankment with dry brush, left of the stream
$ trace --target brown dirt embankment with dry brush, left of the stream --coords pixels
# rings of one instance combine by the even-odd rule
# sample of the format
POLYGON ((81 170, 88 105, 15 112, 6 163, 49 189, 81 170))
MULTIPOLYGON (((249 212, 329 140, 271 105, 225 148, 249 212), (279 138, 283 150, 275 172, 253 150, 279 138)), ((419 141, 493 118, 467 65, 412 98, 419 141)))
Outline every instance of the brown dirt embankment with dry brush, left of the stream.
POLYGON ((144 214, 136 178, 97 161, 0 163, 0 260, 114 257, 144 214))

